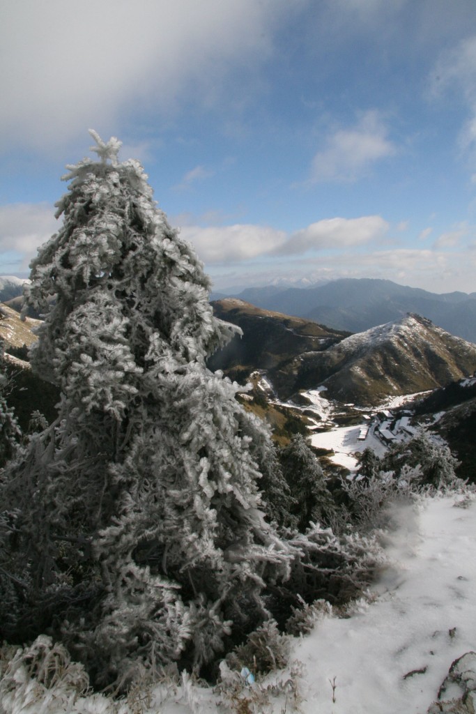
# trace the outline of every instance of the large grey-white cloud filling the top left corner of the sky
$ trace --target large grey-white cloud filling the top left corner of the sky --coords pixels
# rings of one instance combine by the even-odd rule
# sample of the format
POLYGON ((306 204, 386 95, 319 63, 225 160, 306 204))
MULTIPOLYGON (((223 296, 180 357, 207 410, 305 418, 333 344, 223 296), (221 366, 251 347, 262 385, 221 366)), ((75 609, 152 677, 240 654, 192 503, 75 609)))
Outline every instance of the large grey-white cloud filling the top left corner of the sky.
MULTIPOLYGON (((64 144, 116 131, 140 105, 167 114, 184 96, 216 103, 236 66, 268 59, 279 0, 16 0, 0 26, 4 146, 64 144)), ((238 88, 236 87, 236 91, 238 88)))

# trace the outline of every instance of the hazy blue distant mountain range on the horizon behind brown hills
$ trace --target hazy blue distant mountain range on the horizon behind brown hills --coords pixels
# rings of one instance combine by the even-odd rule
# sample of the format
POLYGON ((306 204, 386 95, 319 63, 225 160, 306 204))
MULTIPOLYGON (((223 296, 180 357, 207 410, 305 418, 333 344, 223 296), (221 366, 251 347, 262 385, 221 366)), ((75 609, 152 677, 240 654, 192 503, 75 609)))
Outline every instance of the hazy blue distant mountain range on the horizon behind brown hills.
POLYGON ((417 313, 454 335, 476 342, 476 293, 430 293, 389 280, 343 278, 310 288, 247 288, 236 297, 253 305, 362 332, 417 313))

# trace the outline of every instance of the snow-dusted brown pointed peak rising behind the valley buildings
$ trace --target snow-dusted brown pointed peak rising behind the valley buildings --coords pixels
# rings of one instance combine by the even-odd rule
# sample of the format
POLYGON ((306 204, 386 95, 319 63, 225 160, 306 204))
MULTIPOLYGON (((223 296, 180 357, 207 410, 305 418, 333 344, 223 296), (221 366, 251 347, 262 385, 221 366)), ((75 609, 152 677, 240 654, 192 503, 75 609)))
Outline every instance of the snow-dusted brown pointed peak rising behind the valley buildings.
POLYGON ((475 368, 475 344, 410 313, 304 355, 296 386, 325 386, 330 397, 370 406, 389 395, 445 386, 475 368))

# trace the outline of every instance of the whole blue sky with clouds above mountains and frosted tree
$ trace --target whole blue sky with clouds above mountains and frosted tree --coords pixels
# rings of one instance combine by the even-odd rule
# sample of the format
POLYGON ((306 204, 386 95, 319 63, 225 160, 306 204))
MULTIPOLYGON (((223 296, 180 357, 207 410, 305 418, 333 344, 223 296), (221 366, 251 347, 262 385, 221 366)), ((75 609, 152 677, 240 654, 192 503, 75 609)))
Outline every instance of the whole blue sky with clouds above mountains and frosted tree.
POLYGON ((4 0, 0 58, 2 275, 92 127, 217 290, 476 291, 474 0, 4 0))

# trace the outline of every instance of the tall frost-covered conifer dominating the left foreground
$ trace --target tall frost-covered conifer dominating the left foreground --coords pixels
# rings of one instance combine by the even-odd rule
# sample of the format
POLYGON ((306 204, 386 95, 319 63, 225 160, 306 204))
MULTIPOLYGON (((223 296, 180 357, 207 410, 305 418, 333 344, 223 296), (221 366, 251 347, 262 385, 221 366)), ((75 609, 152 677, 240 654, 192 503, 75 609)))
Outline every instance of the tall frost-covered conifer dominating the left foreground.
POLYGON ((64 225, 26 293, 46 315, 31 364, 61 389, 59 414, 1 496, 28 568, 16 638, 49 628, 104 684, 213 658, 263 620, 289 548, 261 510, 268 433, 206 368, 235 328, 141 165, 91 134, 99 161, 68 167, 64 225))

